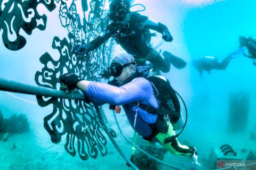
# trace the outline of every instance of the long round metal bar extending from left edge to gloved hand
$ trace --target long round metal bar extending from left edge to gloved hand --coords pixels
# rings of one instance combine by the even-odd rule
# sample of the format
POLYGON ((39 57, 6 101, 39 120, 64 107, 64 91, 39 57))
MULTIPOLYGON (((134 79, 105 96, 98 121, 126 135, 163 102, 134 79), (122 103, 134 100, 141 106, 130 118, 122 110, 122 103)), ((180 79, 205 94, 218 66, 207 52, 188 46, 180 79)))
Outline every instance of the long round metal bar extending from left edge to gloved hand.
POLYGON ((41 87, 41 86, 33 86, 33 85, 24 84, 17 81, 11 81, 3 78, 0 78, 0 90, 18 92, 20 94, 27 94, 27 95, 84 100, 84 95, 82 94, 74 94, 70 92, 55 90, 55 89, 41 87))

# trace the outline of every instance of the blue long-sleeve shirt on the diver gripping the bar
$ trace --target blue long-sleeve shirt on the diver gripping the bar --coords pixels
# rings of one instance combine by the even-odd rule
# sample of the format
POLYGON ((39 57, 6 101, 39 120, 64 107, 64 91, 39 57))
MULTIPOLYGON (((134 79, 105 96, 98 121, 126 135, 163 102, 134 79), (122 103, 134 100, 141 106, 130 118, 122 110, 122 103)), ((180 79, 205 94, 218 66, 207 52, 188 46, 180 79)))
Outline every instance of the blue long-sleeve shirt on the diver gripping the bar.
POLYGON ((132 127, 134 126, 134 115, 136 112, 134 110, 138 109, 138 116, 133 129, 143 137, 151 134, 150 124, 156 122, 157 115, 148 113, 134 104, 141 103, 158 108, 153 88, 147 79, 135 78, 130 83, 121 87, 90 82, 87 86, 86 97, 96 105, 105 103, 123 105, 126 116, 132 127))

